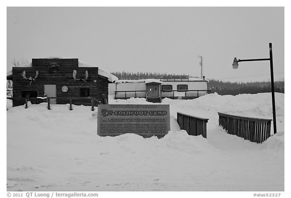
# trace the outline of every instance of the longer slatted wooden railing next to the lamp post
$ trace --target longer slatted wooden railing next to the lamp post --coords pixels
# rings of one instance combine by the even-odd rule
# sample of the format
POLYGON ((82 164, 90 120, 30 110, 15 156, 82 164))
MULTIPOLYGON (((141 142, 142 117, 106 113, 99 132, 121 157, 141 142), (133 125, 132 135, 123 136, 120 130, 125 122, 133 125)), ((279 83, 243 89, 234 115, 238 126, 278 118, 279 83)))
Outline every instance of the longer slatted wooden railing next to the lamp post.
POLYGON ((262 143, 271 136, 271 119, 260 119, 218 113, 219 125, 228 134, 262 143))

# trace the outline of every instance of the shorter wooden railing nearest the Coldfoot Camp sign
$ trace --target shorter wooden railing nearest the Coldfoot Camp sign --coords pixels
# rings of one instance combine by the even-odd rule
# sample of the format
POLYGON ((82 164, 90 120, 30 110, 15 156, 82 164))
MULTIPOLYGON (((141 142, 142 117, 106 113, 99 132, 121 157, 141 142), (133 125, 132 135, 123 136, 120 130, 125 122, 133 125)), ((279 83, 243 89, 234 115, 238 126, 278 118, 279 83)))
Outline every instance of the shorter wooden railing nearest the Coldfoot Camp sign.
POLYGON ((207 138, 208 119, 177 112, 177 122, 180 128, 186 130, 189 135, 202 135, 207 138))

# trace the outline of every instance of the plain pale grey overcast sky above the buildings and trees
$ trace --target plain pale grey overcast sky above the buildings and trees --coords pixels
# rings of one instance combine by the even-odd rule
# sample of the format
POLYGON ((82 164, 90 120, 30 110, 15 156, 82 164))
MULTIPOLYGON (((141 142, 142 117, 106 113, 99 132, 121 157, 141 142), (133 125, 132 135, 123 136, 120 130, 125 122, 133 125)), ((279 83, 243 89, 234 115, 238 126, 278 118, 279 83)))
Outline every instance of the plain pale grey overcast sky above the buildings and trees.
POLYGON ((79 58, 109 72, 211 79, 284 77, 283 7, 8 7, 7 71, 15 59, 79 58))

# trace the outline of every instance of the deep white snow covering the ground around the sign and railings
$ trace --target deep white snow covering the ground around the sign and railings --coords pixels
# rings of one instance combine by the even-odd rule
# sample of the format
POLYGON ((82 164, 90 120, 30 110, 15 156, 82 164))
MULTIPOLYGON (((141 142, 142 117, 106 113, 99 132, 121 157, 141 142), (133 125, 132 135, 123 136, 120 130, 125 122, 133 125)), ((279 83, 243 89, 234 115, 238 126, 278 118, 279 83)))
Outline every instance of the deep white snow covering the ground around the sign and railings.
POLYGON ((171 131, 162 139, 99 137, 97 108, 8 104, 7 190, 284 191, 284 94, 276 93, 277 134, 271 131, 262 144, 228 135, 217 112, 272 119, 270 93, 162 103, 170 104, 171 114, 171 131), (180 130, 177 111, 209 118, 207 139, 180 130))

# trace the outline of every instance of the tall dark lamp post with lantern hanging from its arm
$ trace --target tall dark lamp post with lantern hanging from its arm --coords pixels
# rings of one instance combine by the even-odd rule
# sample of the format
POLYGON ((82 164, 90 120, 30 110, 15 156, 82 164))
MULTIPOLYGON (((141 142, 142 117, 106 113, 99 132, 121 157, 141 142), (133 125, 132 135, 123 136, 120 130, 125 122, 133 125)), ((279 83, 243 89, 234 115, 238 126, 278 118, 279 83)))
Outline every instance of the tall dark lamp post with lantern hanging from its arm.
POLYGON ((274 125, 274 134, 277 133, 276 127, 276 108, 275 108, 275 91, 274 91, 274 72, 273 72, 273 52, 272 52, 272 43, 269 43, 270 58, 260 58, 260 59, 233 59, 232 68, 238 68, 238 62, 243 61, 260 61, 260 60, 270 60, 270 69, 271 69, 271 87, 272 87, 272 107, 273 107, 273 125, 274 125))

